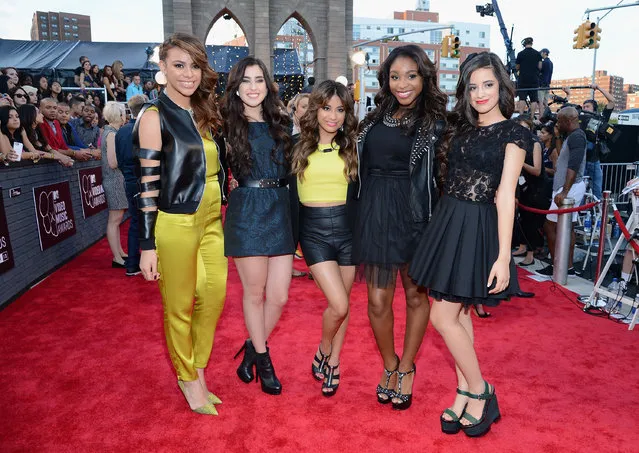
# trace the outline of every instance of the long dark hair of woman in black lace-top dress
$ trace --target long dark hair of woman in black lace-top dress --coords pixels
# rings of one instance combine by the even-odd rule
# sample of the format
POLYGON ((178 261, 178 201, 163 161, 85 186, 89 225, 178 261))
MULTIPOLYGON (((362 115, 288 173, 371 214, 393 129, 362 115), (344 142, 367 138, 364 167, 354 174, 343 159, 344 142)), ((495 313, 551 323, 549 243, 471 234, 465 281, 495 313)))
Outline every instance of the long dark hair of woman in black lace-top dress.
POLYGON ((510 118, 515 111, 515 86, 508 76, 504 63, 492 52, 480 52, 469 55, 459 67, 459 82, 455 97, 457 104, 449 115, 452 124, 449 134, 437 153, 439 177, 443 180, 448 172, 448 149, 453 135, 465 135, 478 125, 479 114, 470 103, 470 76, 477 69, 490 68, 499 84, 499 110, 505 118, 510 118))

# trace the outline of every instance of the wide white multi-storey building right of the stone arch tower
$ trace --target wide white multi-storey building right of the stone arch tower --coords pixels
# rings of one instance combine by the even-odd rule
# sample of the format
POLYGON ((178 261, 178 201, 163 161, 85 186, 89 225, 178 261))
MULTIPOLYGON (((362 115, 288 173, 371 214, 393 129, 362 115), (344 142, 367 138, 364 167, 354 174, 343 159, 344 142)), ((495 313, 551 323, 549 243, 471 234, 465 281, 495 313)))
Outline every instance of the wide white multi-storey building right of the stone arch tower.
MULTIPOLYGON (((359 49, 368 54, 368 64, 364 71, 367 96, 373 97, 379 90, 377 70, 381 62, 395 47, 410 43, 423 48, 437 67, 439 87, 448 94, 451 107, 454 103, 461 62, 470 53, 490 50, 489 25, 467 22, 442 24, 439 22, 439 13, 428 11, 429 3, 418 1, 416 10, 395 11, 392 19, 353 19, 353 44, 362 43, 359 49), (429 31, 430 28, 440 29, 429 31), (442 58, 441 41, 447 34, 459 37, 461 58, 442 58), (388 36, 396 38, 383 39, 388 36)), ((357 68, 352 76, 353 80, 357 78, 357 68)))

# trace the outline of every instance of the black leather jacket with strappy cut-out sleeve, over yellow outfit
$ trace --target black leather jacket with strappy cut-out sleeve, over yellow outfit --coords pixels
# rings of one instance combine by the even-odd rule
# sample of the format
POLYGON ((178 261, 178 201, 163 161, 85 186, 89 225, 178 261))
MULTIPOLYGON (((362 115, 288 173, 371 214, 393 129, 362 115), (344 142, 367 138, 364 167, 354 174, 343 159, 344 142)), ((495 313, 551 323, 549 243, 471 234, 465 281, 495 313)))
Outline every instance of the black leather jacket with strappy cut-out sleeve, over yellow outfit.
MULTIPOLYGON (((225 204, 228 196, 227 165, 225 161, 226 145, 221 136, 214 137, 218 149, 220 173, 218 183, 225 204)), ((159 196, 152 198, 138 197, 138 207, 157 206, 158 209, 170 214, 193 214, 197 211, 204 194, 206 184, 206 155, 202 144, 202 137, 191 117, 191 114, 176 105, 169 97, 162 93, 152 102, 146 104, 135 123, 133 129, 133 152, 139 165, 139 159, 159 160, 158 182, 139 183, 140 193, 158 190, 159 196), (155 106, 160 115, 160 130, 162 131, 162 150, 140 149, 139 121, 147 108, 155 106)), ((155 175, 158 170, 141 168, 141 175, 155 175)), ((155 222, 157 210, 139 210, 140 219, 140 247, 142 250, 155 248, 155 222)))

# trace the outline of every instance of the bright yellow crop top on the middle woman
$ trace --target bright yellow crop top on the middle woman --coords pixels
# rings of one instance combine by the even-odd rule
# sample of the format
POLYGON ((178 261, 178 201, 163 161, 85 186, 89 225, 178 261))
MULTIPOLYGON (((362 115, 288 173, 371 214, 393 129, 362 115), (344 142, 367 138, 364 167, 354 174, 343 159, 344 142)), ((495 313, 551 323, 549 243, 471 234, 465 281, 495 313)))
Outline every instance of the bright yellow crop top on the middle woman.
POLYGON ((331 145, 319 145, 317 151, 308 156, 308 167, 304 180, 297 178, 297 193, 300 203, 336 203, 346 201, 348 180, 344 175, 344 160, 339 148, 331 152, 322 150, 331 145))

